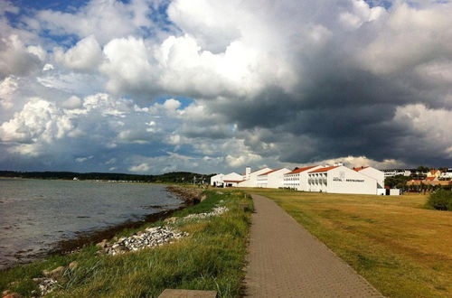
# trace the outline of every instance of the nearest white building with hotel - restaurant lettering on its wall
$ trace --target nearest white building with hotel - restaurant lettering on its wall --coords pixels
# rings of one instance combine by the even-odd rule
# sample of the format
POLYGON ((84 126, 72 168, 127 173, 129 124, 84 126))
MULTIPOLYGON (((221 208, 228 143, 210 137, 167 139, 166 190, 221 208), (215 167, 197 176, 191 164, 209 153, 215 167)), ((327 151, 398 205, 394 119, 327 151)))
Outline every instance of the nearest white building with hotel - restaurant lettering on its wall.
POLYGON ((344 165, 334 165, 308 172, 309 191, 332 193, 377 194, 377 180, 353 171, 344 165))

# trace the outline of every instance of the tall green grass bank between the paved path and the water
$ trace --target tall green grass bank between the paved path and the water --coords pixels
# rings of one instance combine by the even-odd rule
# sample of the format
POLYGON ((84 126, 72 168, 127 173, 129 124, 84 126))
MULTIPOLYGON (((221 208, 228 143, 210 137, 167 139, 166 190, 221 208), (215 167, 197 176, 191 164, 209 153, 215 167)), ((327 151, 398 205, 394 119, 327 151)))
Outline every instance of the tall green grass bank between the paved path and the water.
MULTIPOLYGON (((165 288, 215 290, 220 297, 239 296, 250 227, 250 211, 240 209, 240 203, 247 203, 252 210, 252 202, 240 191, 225 191, 223 195, 208 191, 207 195, 200 204, 173 216, 207 212, 218 205, 230 210, 210 219, 176 222, 176 228, 190 233, 189 237, 119 256, 99 256, 94 245, 68 256, 51 256, 1 272, 0 289, 31 296, 37 289, 32 279, 42 277, 42 270, 77 261, 79 265, 73 271, 66 270, 60 287, 47 296, 155 297, 165 288)), ((118 237, 158 225, 163 222, 126 230, 118 237)))

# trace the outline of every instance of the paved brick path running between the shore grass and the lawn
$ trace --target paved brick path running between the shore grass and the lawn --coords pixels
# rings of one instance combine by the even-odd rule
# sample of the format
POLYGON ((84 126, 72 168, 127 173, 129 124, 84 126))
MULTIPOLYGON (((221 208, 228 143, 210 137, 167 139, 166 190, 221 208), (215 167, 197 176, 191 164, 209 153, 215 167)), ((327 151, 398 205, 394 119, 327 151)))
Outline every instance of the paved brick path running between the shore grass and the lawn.
POLYGON ((381 297, 273 200, 253 200, 246 296, 381 297))

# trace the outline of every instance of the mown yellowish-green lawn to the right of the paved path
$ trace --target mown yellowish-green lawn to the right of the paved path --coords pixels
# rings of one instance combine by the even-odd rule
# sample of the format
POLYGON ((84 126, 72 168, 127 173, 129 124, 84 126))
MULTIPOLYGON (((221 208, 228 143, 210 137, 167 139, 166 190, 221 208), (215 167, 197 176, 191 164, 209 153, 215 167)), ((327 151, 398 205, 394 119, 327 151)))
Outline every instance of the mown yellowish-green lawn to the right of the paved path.
POLYGON ((390 297, 452 297, 452 212, 400 197, 253 189, 390 297))

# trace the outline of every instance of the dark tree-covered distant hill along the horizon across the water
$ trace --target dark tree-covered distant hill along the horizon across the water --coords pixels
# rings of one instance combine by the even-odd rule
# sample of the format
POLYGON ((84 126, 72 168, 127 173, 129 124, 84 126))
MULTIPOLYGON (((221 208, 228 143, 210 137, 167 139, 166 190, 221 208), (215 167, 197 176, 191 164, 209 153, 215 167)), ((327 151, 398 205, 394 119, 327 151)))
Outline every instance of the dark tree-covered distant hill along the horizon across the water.
POLYGON ((179 182, 193 183, 209 182, 214 174, 196 172, 167 172, 160 175, 136 175, 116 172, 16 172, 0 171, 0 177, 28 179, 60 179, 60 180, 102 180, 127 182, 179 182), (195 179, 193 179, 195 177, 195 179))

